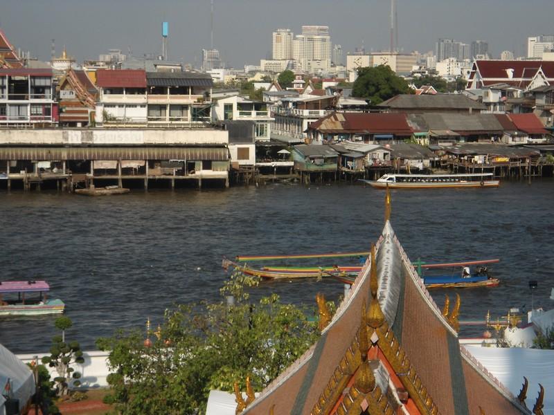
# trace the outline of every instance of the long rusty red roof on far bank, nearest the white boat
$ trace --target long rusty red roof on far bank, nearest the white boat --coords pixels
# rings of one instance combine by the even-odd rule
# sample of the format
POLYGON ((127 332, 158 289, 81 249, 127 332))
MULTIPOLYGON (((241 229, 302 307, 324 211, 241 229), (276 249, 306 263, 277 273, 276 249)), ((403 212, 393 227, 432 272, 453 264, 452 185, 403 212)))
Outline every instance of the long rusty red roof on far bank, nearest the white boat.
POLYGON ((404 113, 332 113, 310 124, 309 129, 337 132, 411 135, 404 113))

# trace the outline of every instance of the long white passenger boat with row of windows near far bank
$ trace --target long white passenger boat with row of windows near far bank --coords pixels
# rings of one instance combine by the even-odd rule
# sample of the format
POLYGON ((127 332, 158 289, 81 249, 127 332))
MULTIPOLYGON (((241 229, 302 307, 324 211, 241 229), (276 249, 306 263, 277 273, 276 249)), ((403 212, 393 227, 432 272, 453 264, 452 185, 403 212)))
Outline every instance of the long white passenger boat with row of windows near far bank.
POLYGON ((444 187, 498 187, 500 181, 492 173, 470 174, 385 174, 376 181, 365 183, 385 189, 427 189, 444 187))

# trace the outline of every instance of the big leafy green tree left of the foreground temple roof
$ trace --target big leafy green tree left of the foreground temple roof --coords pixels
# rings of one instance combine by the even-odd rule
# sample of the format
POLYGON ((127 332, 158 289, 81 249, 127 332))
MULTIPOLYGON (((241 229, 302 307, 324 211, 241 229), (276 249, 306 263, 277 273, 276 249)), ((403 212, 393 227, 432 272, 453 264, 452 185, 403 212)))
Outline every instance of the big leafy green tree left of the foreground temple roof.
POLYGON ((233 273, 215 304, 179 306, 145 343, 141 331, 118 331, 97 345, 109 350, 108 377, 120 414, 195 414, 210 389, 232 391, 251 378, 260 391, 316 340, 305 310, 278 295, 251 301, 258 280, 233 273), (229 305, 224 297, 233 296, 229 305))

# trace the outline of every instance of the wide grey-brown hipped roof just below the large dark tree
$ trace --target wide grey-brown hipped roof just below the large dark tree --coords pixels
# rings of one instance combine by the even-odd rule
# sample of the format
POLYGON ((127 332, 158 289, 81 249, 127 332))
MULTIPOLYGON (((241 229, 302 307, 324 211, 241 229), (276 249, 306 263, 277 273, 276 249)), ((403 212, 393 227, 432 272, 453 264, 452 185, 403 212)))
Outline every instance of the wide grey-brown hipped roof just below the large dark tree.
POLYGON ((377 107, 396 109, 485 109, 479 102, 459 93, 436 95, 396 95, 378 104, 377 107))

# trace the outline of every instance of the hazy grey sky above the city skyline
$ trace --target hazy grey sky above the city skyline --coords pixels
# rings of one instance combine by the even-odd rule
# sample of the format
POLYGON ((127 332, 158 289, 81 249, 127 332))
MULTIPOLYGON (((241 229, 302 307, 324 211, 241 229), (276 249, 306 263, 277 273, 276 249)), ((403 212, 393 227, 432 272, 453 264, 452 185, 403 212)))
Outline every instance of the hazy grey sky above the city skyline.
MULTIPOLYGON (((363 43, 388 48, 388 0, 215 0, 214 46, 228 66, 271 58, 276 28, 330 28, 343 55, 363 43)), ((397 0, 400 48, 434 50, 438 37, 489 42, 526 55, 526 37, 554 34, 554 0, 397 0)), ((16 48, 50 59, 63 45, 78 62, 109 48, 135 56, 161 54, 161 22, 169 21, 169 59, 200 64, 210 47, 210 0, 0 0, 0 27, 16 48)))

